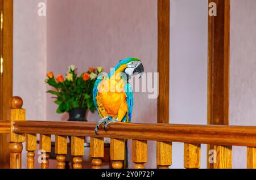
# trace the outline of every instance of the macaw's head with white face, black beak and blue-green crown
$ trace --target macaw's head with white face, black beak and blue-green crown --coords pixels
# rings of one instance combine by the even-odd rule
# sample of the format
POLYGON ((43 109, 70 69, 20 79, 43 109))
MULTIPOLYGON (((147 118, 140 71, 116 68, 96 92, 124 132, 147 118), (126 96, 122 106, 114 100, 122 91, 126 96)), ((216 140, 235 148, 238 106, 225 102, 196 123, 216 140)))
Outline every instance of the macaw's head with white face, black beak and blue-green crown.
POLYGON ((142 77, 143 72, 144 72, 144 67, 141 63, 141 60, 138 58, 128 58, 128 59, 123 59, 122 61, 119 62, 121 65, 126 65, 127 67, 125 68, 125 74, 128 76, 135 76, 139 74, 139 78, 142 77))

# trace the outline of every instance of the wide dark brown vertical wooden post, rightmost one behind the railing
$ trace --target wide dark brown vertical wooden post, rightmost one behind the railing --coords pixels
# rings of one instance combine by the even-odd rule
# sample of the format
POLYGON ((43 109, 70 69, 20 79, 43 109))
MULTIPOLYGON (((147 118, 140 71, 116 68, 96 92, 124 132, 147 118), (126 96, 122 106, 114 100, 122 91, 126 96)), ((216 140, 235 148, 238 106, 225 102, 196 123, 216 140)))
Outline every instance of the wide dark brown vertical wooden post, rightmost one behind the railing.
POLYGON ((208 125, 229 125, 230 0, 210 2, 217 16, 208 18, 208 125))

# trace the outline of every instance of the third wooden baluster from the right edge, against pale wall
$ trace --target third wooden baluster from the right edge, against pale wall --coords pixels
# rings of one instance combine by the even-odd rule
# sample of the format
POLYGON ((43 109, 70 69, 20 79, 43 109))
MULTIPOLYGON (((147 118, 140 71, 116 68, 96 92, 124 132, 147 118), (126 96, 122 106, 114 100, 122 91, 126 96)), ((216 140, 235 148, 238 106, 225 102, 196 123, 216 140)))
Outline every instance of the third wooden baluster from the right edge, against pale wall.
POLYGON ((201 145, 184 143, 184 168, 200 168, 201 145))

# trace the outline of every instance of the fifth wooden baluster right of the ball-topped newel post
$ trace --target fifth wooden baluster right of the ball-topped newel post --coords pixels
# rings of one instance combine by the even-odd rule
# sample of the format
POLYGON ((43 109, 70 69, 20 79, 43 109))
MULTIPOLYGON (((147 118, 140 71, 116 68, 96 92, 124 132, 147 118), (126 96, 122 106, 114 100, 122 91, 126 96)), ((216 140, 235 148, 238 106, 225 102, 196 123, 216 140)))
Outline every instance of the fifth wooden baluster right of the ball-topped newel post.
POLYGON ((90 138, 90 157, 92 157, 92 169, 101 168, 101 158, 104 157, 104 138, 90 138))

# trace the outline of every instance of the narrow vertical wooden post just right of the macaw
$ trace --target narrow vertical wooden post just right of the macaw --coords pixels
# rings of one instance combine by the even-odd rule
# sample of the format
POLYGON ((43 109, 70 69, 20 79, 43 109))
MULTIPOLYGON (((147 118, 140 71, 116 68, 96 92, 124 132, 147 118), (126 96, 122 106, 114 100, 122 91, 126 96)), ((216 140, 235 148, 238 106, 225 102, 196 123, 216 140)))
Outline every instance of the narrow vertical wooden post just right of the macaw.
POLYGON ((170 0, 158 0, 158 123, 169 123, 170 0))

